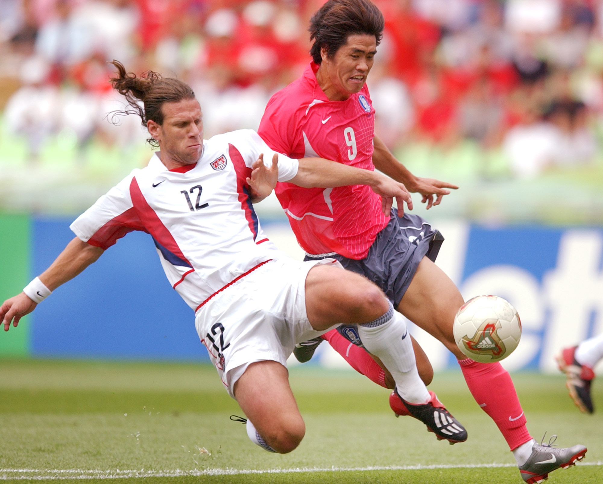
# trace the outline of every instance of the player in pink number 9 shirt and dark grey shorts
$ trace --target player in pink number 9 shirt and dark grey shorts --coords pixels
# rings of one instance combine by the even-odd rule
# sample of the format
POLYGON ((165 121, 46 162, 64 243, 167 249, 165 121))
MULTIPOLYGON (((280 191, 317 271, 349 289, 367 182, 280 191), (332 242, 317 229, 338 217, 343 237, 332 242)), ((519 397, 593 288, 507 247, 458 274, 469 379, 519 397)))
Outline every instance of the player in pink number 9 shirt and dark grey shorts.
MULTIPOLYGON (((429 208, 440 203, 447 188, 456 187, 414 177, 374 136, 374 109, 365 83, 383 28, 384 18, 369 0, 327 1, 311 19, 312 62, 301 78, 270 99, 258 133, 275 151, 291 157, 321 156, 377 168, 421 193, 429 208)), ((458 350, 452 322, 464 301, 428 257, 437 234, 428 222, 382 213, 379 198, 362 186, 305 189, 279 183, 276 193, 306 260, 332 257, 365 275, 400 313, 455 354, 473 397, 499 427, 526 482, 540 482, 584 456, 581 445, 538 445, 526 428, 508 372, 500 363, 477 363, 458 350)), ((395 390, 390 404, 397 414, 412 413, 395 390)))

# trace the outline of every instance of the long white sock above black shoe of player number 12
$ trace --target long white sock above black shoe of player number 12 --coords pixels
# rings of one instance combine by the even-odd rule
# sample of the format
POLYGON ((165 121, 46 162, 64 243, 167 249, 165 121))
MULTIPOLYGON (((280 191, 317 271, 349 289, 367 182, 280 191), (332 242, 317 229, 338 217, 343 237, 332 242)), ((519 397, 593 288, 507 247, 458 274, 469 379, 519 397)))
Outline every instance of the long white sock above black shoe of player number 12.
POLYGON ((403 316, 390 303, 387 313, 358 325, 358 335, 367 351, 378 356, 396 382, 400 397, 408 403, 427 403, 431 395, 418 376, 411 338, 403 316))

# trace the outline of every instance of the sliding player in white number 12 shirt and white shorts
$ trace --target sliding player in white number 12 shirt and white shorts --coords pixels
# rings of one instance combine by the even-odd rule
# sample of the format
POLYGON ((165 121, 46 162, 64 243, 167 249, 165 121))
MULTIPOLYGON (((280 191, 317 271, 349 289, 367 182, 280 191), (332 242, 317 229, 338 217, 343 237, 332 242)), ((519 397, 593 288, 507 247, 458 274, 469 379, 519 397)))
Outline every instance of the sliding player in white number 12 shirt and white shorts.
POLYGON ((113 87, 161 151, 73 222, 76 237, 65 250, 0 307, 4 329, 11 321, 16 326, 116 240, 141 230, 151 234, 169 283, 195 311, 198 335, 247 415, 248 435, 256 444, 279 453, 297 447, 305 426, 285 362, 296 343, 339 321, 358 324, 365 346, 384 361, 397 391, 429 430, 466 440, 463 426, 431 403, 405 338, 406 324, 380 289, 335 260, 297 262, 280 253, 262 234, 251 204, 252 198, 269 195, 277 179, 306 187, 367 184, 387 208, 392 197, 400 206, 409 198, 403 187, 367 170, 277 155, 250 130, 204 141, 191 87, 153 72, 142 78, 126 74, 122 64, 113 63, 119 72, 113 87), (262 154, 272 160, 270 169, 262 154))

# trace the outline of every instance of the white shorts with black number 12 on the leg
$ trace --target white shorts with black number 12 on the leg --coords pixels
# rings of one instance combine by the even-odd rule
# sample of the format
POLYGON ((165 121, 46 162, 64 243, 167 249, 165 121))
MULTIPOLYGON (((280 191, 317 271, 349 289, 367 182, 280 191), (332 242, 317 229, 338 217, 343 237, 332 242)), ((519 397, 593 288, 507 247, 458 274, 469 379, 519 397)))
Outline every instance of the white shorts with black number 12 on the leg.
POLYGON ((341 267, 333 259, 271 260, 197 311, 197 333, 231 397, 250 363, 273 360, 286 366, 295 344, 331 329, 314 330, 306 314, 306 276, 320 264, 341 267))

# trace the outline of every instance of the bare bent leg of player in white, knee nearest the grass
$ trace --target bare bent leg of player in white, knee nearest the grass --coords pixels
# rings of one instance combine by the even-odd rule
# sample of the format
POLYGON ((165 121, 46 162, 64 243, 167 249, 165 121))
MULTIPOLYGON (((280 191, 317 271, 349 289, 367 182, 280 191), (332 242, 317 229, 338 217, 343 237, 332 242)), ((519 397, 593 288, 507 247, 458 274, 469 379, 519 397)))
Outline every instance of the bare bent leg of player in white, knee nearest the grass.
MULTIPOLYGON (((235 382, 234 394, 256 435, 250 438, 265 443, 281 454, 291 452, 303 439, 306 426, 289 386, 289 373, 276 361, 251 363, 235 382), (264 442, 262 442, 262 440, 264 442)), ((249 432, 248 432, 249 433, 249 432)))

